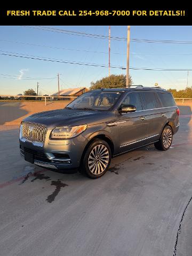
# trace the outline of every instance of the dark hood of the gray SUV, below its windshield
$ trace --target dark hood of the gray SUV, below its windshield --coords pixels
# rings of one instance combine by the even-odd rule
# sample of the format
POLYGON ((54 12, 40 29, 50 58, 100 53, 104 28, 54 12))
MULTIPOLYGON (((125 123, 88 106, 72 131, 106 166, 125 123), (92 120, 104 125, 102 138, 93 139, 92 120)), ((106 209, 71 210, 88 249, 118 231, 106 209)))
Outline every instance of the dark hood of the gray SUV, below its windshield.
POLYGON ((81 109, 57 109, 36 113, 23 119, 25 122, 44 124, 48 129, 59 126, 75 126, 81 124, 94 125, 107 122, 115 114, 111 111, 93 111, 81 109))

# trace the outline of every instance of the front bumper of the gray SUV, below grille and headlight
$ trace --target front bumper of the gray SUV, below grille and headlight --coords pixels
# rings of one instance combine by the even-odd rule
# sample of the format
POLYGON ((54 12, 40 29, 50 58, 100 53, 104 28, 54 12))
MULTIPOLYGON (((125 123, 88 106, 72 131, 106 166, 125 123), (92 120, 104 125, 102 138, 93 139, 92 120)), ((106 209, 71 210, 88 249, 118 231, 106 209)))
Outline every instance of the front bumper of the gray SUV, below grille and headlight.
POLYGON ((81 134, 66 141, 45 139, 43 145, 22 140, 20 138, 20 153, 22 157, 29 153, 34 157, 34 164, 49 169, 77 169, 81 163, 86 139, 81 134))

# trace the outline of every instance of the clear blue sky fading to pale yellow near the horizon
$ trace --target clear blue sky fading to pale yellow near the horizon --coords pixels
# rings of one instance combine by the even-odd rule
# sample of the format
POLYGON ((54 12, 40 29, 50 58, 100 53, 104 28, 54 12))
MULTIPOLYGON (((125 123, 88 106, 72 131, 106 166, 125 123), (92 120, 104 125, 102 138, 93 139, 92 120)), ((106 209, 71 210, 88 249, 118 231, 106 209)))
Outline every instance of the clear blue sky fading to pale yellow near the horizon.
MULTIPOLYGON (((62 30, 108 36, 109 26, 46 26, 62 30)), ((55 30, 54 30, 55 31, 55 30)), ((76 33, 55 33, 35 26, 0 26, 0 94, 16 95, 28 89, 43 94, 60 89, 90 87, 108 76, 108 67, 94 67, 37 60, 37 58, 78 63, 108 65, 108 39, 77 36, 76 33), (10 55, 19 55, 20 58, 10 55)), ((192 41, 192 26, 131 26, 130 38, 192 41)), ((111 37, 127 36, 127 26, 111 26, 111 37)), ((192 69, 192 44, 130 43, 130 67, 192 69)), ((126 41, 111 38, 111 66, 126 67, 126 41)), ((111 68, 110 74, 126 74, 126 70, 111 68)), ((159 86, 165 89, 185 89, 187 71, 133 70, 134 85, 159 86)), ((188 86, 192 85, 192 71, 188 86)))

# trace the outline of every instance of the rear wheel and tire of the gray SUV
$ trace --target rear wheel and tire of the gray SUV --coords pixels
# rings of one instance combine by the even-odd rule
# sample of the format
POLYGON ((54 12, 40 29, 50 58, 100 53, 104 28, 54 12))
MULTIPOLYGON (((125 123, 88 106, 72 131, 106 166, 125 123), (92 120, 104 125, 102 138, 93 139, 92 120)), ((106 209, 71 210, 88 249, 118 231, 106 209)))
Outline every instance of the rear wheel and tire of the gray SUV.
POLYGON ((173 130, 170 125, 166 125, 162 131, 159 141, 154 143, 154 146, 158 150, 165 151, 171 147, 173 140, 173 130))

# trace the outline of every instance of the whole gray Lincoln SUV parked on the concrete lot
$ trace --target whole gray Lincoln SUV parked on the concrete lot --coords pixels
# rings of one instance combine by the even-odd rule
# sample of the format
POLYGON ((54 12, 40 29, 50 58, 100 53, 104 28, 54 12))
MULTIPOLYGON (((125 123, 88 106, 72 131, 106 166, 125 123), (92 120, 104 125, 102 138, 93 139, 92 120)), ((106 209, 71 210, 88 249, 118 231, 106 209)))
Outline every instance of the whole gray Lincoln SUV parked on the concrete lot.
POLYGON ((179 109, 166 90, 93 90, 64 109, 25 118, 20 152, 30 163, 63 172, 81 170, 95 179, 107 172, 111 157, 152 143, 169 149, 178 129, 179 109))

